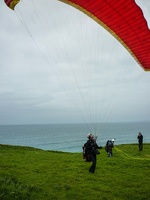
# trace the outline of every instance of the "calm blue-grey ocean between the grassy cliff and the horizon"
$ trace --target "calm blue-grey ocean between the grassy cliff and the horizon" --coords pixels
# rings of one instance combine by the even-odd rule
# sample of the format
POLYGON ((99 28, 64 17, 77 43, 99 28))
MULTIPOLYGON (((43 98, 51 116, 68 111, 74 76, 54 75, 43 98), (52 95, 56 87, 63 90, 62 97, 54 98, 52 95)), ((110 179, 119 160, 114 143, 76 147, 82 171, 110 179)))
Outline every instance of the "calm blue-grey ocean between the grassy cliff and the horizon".
MULTIPOLYGON (((29 146, 43 150, 82 152, 89 130, 97 130, 97 144, 104 146, 115 138, 115 145, 137 144, 137 135, 143 134, 144 143, 150 143, 150 123, 104 124, 45 124, 0 125, 0 144, 29 146), (89 128, 91 127, 91 128, 89 128)), ((92 132, 93 133, 93 132, 92 132)))

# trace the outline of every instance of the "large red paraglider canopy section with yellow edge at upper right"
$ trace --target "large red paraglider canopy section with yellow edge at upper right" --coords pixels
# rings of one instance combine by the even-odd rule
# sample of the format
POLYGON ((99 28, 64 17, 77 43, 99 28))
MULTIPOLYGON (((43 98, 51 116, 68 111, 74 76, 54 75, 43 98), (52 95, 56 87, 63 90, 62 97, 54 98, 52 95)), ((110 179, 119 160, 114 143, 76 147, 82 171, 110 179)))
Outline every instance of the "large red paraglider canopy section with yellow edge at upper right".
POLYGON ((76 7, 101 24, 123 44, 144 70, 150 70, 150 30, 134 0, 59 1, 76 7))

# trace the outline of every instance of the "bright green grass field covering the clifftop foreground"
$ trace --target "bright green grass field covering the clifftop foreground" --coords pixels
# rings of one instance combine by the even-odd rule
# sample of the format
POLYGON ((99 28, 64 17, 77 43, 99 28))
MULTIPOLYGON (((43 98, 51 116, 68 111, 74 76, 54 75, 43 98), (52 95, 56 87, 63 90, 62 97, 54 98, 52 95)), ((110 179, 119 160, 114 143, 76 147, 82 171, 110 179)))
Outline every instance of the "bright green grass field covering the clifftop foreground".
POLYGON ((0 200, 148 200, 150 144, 119 145, 97 156, 95 174, 82 153, 0 145, 0 200))

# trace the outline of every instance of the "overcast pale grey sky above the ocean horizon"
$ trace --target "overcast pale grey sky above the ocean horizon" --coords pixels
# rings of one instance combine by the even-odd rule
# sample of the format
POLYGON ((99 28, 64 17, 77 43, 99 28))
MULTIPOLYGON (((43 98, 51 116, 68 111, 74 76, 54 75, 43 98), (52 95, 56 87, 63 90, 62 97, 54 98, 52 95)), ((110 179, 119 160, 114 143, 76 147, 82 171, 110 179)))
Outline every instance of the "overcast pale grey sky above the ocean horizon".
POLYGON ((85 14, 1 1, 0 25, 0 125, 150 121, 150 72, 85 14))

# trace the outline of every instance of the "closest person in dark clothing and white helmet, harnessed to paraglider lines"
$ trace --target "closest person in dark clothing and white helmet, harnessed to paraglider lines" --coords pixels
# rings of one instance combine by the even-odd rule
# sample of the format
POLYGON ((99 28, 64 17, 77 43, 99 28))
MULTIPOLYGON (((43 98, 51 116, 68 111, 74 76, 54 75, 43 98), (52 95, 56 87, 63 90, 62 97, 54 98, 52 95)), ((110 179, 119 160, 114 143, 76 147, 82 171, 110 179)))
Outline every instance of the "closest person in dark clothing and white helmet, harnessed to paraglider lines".
POLYGON ((92 161, 89 172, 94 173, 96 169, 96 155, 100 154, 98 149, 101 149, 102 147, 97 145, 96 140, 94 139, 94 136, 92 134, 89 134, 87 138, 88 141, 83 146, 84 158, 87 162, 92 161))

